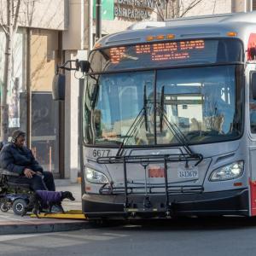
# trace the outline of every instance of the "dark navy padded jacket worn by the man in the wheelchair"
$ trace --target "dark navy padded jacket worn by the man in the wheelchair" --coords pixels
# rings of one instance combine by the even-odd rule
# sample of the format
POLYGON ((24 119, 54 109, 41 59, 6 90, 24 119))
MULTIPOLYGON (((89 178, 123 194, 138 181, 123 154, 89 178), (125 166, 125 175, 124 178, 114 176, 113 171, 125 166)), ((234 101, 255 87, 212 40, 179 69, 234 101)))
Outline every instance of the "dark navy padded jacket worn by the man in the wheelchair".
POLYGON ((15 143, 8 143, 3 146, 0 152, 1 167, 9 172, 22 174, 25 168, 34 172, 43 172, 42 166, 39 166, 35 160, 32 151, 29 148, 18 148, 15 143))

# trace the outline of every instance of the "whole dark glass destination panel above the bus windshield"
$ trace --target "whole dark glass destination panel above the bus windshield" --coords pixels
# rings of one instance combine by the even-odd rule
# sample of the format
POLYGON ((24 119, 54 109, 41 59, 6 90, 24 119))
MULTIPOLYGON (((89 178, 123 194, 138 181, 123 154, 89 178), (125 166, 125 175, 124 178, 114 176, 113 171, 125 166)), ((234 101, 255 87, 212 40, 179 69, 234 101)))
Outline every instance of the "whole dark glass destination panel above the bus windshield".
POLYGON ((238 39, 196 38, 96 49, 90 55, 90 67, 96 73, 140 68, 224 64, 242 60, 243 47, 238 39))

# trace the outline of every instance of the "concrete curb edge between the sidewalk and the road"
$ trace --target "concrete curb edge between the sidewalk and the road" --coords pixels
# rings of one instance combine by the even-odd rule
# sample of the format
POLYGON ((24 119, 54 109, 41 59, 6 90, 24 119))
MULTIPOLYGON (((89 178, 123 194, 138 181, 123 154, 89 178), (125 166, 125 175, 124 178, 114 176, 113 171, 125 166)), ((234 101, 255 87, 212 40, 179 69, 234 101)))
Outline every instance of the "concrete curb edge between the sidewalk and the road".
POLYGON ((28 234, 28 233, 48 233, 48 232, 60 232, 60 231, 72 231, 83 230, 91 228, 91 224, 88 221, 58 221, 47 223, 35 223, 35 224, 20 224, 20 222, 12 224, 0 225, 0 235, 16 235, 16 234, 28 234))

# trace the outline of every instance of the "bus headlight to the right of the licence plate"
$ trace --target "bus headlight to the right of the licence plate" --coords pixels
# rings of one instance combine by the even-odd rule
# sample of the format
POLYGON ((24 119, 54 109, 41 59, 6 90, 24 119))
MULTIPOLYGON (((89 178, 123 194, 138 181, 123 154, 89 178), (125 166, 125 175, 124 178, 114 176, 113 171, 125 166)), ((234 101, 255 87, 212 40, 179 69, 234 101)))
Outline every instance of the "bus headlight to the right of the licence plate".
POLYGON ((243 161, 237 161, 228 166, 222 166, 212 172, 210 181, 223 181, 241 177, 243 173, 243 161))

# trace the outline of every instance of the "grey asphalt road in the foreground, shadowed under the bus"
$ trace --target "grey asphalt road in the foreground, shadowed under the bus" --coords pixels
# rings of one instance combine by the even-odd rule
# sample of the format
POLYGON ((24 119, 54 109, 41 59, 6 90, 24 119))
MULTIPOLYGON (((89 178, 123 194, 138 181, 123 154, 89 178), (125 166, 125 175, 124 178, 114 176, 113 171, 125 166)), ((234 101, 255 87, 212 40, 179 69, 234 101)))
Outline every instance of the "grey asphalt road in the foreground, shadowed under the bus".
POLYGON ((0 255, 224 255, 256 254, 256 218, 135 221, 86 230, 0 236, 0 255))

